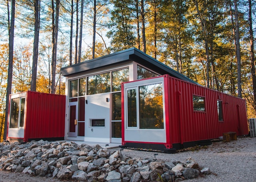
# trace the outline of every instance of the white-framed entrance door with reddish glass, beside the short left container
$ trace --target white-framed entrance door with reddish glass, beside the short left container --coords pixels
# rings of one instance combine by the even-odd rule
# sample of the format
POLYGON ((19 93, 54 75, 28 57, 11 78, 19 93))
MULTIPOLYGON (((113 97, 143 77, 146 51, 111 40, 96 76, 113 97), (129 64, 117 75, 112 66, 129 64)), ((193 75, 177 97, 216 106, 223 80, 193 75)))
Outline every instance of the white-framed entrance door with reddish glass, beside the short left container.
POLYGON ((78 102, 68 105, 68 137, 77 137, 78 102))

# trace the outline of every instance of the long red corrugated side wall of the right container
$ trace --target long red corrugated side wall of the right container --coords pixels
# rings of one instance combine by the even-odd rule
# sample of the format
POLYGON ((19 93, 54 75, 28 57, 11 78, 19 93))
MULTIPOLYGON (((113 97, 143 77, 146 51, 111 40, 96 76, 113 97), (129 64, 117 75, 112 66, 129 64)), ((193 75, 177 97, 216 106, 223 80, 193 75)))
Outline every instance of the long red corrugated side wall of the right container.
POLYGON ((170 141, 173 143, 214 139, 229 131, 248 134, 244 99, 172 77, 169 77, 169 85, 170 141), (205 97, 205 112, 194 111, 193 95, 205 97), (217 100, 222 101, 224 121, 218 121, 217 100))

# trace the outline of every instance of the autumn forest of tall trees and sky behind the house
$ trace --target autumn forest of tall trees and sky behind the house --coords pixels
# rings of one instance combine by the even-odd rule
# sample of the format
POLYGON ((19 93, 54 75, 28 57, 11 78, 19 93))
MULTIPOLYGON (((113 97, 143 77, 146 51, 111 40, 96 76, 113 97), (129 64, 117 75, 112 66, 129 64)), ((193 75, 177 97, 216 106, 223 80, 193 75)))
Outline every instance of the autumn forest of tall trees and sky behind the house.
POLYGON ((64 94, 60 68, 136 47, 256 117, 254 0, 0 0, 0 141, 9 94, 64 94))

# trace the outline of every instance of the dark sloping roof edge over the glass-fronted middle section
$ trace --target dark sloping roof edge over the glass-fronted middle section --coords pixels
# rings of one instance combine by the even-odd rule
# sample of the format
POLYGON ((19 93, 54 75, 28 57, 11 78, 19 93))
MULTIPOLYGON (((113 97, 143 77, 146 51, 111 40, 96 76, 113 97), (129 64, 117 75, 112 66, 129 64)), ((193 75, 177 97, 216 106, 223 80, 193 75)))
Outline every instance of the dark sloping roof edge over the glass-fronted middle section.
POLYGON ((61 68, 61 73, 63 76, 70 76, 72 74, 77 74, 80 72, 93 70, 96 68, 107 67, 110 65, 115 65, 118 63, 126 62, 126 61, 134 61, 160 74, 169 74, 170 76, 174 76, 181 80, 196 83, 190 78, 184 76, 183 74, 180 74, 174 69, 164 65, 163 63, 157 61, 156 59, 150 57, 149 55, 145 54, 144 52, 134 47, 130 49, 126 49, 124 51, 119 51, 116 53, 105 55, 103 57, 98 57, 96 59, 91 59, 88 61, 84 61, 82 63, 61 68))

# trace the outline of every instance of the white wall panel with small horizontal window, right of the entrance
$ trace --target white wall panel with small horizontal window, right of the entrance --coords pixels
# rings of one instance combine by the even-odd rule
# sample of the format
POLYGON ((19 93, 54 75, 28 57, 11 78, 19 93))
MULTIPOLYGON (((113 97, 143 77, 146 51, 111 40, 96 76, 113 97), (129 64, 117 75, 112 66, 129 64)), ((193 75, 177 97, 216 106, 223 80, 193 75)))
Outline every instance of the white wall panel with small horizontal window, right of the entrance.
POLYGON ((84 141, 110 142, 110 93, 86 96, 84 141))

